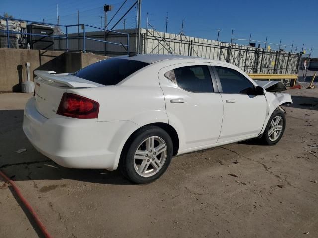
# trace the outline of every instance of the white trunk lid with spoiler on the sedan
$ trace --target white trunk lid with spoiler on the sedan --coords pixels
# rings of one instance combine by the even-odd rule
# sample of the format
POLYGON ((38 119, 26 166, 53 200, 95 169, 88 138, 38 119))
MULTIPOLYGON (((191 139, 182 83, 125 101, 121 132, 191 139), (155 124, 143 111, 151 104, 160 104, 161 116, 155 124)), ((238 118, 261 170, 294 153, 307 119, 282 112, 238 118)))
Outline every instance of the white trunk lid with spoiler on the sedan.
POLYGON ((35 107, 46 118, 56 115, 63 93, 71 88, 103 86, 71 74, 53 74, 54 71, 34 71, 35 107))

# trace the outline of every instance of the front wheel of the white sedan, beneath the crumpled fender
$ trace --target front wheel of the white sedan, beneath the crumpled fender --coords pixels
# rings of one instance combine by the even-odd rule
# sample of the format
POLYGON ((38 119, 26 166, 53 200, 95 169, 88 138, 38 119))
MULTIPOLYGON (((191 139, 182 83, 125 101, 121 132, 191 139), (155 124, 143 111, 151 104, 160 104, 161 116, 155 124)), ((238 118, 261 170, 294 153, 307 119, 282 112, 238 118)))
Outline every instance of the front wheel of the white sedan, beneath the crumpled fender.
POLYGON ((268 120, 266 129, 261 138, 264 144, 275 145, 282 138, 285 126, 285 114, 280 110, 275 110, 268 120))

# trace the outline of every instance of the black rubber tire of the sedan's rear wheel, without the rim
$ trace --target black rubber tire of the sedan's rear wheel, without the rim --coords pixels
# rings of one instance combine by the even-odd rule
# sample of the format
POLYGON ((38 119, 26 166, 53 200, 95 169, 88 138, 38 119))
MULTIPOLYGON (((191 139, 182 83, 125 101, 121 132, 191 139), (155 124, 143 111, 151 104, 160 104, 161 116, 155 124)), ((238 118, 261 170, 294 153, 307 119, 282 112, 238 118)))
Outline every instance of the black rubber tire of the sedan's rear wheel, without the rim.
MULTIPOLYGON (((132 137, 127 141, 121 153, 121 158, 120 158, 121 172, 127 179, 131 180, 134 183, 144 184, 144 183, 153 182, 156 179, 158 179, 168 168, 172 159, 172 153, 173 153, 173 143, 169 134, 165 130, 161 129, 160 127, 145 126, 141 128, 140 130, 138 130, 137 132, 135 132, 135 134, 132 135, 132 137), (136 162, 134 157, 135 157, 136 150, 140 148, 141 143, 145 141, 147 138, 152 136, 155 136, 164 141, 166 145, 166 152, 165 152, 166 157, 162 166, 160 167, 158 172, 156 172, 156 174, 145 177, 137 173, 135 169, 136 162)), ((148 163, 152 163, 152 161, 148 163)), ((152 168, 152 165, 150 166, 150 168, 152 168)))

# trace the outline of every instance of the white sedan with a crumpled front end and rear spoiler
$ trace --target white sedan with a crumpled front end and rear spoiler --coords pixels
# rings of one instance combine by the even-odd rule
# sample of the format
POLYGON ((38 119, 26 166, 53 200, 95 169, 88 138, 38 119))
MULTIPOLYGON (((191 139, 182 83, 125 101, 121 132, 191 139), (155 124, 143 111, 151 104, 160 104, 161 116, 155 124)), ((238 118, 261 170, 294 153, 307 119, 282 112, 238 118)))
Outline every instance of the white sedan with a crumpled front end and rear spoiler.
POLYGON ((266 91, 203 58, 122 56, 71 74, 34 73, 23 121, 32 145, 61 166, 120 168, 136 183, 158 179, 174 155, 252 138, 276 144, 286 125, 280 105, 292 103, 279 87, 266 91))

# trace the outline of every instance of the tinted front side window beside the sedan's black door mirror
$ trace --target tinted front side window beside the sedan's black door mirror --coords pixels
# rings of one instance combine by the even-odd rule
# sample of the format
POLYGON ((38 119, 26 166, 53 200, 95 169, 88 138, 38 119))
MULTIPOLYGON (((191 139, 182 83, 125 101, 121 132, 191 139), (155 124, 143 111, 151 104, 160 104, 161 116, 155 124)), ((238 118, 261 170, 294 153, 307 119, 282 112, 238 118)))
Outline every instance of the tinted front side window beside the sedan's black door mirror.
POLYGON ((215 66, 215 69, 219 75, 223 93, 254 93, 254 85, 243 74, 231 68, 215 66))

